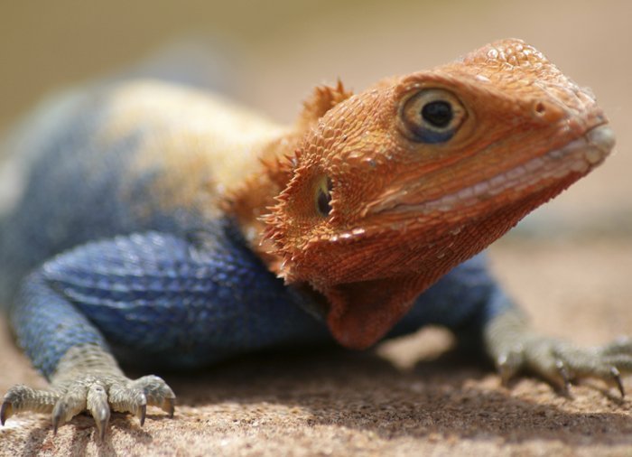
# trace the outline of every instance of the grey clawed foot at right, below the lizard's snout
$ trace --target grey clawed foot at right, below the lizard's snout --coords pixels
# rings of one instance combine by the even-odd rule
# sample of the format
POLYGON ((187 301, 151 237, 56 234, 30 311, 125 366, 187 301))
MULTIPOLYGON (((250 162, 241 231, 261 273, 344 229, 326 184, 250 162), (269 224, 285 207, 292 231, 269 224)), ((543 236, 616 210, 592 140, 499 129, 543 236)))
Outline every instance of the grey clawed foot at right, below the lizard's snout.
POLYGON ((520 370, 544 378, 562 394, 569 395, 573 381, 598 378, 625 389, 621 375, 632 373, 632 339, 620 338, 595 348, 579 348, 571 342, 546 338, 529 331, 516 315, 508 313, 493 322, 489 350, 504 383, 520 370))

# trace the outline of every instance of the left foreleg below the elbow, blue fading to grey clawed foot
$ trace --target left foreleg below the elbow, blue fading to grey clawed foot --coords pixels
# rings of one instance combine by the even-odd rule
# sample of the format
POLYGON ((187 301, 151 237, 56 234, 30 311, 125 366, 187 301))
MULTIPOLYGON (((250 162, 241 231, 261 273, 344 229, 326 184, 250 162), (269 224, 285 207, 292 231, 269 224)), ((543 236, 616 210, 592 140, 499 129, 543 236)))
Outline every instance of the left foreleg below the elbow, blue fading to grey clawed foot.
POLYGON ((172 389, 155 376, 126 378, 100 331, 67 297, 51 288, 44 271, 24 281, 11 321, 19 344, 49 378, 51 389, 22 385, 9 389, 0 407, 2 424, 22 411, 51 413, 57 432, 61 424, 88 410, 103 437, 110 409, 136 415, 141 425, 147 405, 173 415, 172 389))

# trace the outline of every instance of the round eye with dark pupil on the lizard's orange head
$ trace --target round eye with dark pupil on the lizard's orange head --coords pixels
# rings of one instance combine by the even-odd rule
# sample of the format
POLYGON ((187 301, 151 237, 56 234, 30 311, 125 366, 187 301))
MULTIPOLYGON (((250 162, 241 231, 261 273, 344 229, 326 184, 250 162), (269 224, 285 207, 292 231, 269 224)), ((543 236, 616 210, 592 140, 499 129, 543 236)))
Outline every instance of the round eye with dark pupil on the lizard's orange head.
POLYGON ((423 89, 404 100, 400 123, 404 135, 418 143, 451 139, 467 117, 458 98, 445 89, 423 89))

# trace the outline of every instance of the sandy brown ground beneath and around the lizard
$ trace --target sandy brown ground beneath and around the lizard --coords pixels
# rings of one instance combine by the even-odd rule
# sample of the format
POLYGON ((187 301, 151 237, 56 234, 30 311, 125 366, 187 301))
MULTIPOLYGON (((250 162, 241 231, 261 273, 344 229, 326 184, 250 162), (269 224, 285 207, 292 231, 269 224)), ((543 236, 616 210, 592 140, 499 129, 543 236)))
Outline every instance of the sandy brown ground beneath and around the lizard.
MULTIPOLYGON (((503 243, 498 274, 542 331, 583 344, 632 328, 632 240, 503 243)), ((45 415, 12 417, 2 455, 632 455, 632 400, 598 381, 555 394, 534 378, 501 387, 484 364, 450 352, 428 329, 376 351, 296 351, 164 374, 173 420, 153 410, 141 428, 114 415, 100 443, 91 418, 53 436, 45 415), (447 351, 447 352, 446 352, 447 351)), ((0 333, 0 391, 43 386, 0 333)), ((625 385, 632 391, 632 378, 625 385)))

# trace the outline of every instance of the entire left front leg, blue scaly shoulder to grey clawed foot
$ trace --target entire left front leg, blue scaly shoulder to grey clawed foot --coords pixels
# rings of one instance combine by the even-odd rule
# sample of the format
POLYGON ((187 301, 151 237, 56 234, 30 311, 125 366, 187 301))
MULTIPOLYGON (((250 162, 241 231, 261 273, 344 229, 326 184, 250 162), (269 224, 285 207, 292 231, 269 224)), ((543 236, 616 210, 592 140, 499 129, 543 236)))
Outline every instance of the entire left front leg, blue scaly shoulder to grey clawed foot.
POLYGON ((144 406, 173 413, 163 380, 125 378, 108 350, 170 368, 282 344, 330 340, 232 229, 180 238, 159 232, 88 243, 45 263, 23 284, 11 323, 51 391, 13 387, 2 419, 80 411, 105 433, 109 409, 143 422, 144 406), (226 232, 226 233, 225 233, 226 232), (107 342, 106 342, 107 341, 107 342))

